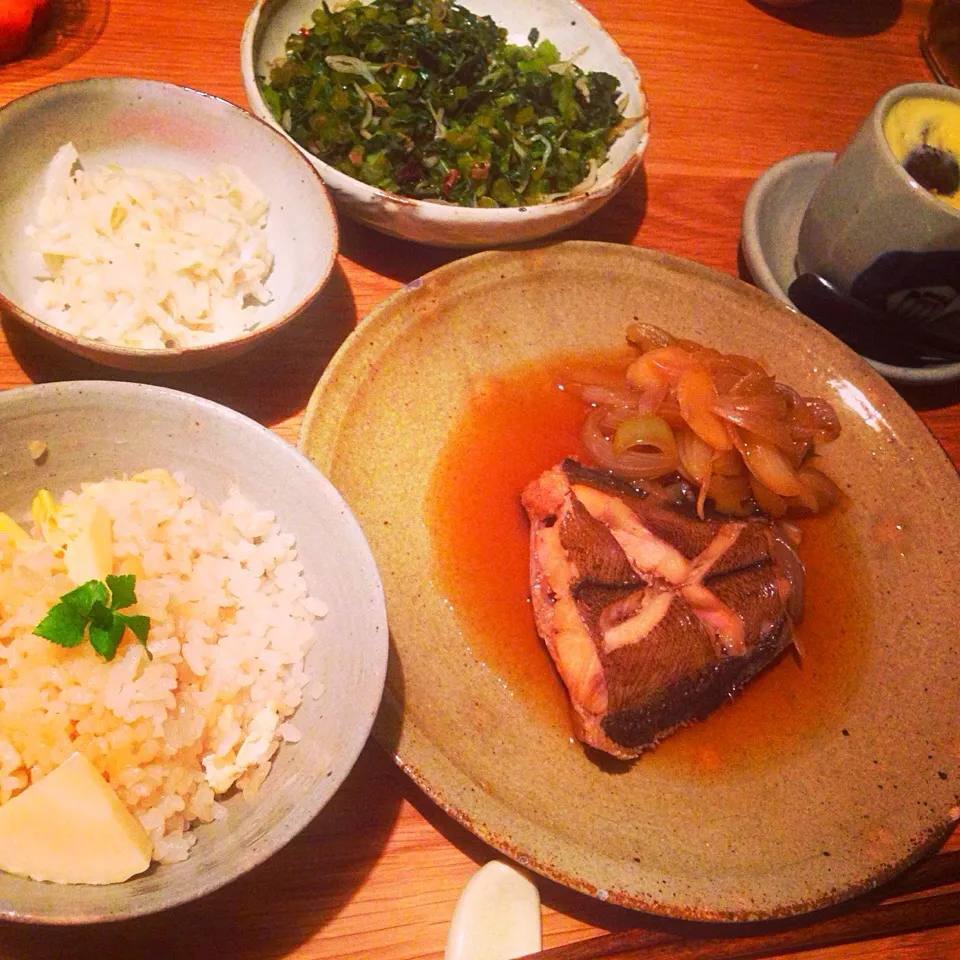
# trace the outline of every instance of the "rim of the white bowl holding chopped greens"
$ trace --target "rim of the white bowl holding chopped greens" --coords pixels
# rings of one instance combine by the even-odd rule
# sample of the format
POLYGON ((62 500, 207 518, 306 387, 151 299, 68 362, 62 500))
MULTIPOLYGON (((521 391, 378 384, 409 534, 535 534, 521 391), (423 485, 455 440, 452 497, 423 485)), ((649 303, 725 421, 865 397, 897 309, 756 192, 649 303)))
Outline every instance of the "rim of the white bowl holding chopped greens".
MULTIPOLYGON (((650 141, 650 102, 647 98, 640 72, 636 64, 623 52, 620 44, 607 31, 602 23, 577 0, 559 0, 565 3, 571 10, 575 10, 587 23, 594 29, 603 33, 616 50, 621 64, 630 74, 632 89, 624 91, 629 94, 635 93, 639 100, 639 113, 637 125, 642 128, 637 146, 624 158, 618 166, 612 166, 603 175, 589 187, 578 190, 574 187, 570 192, 563 196, 550 200, 547 203, 525 205, 519 207, 465 207, 456 203, 444 203, 439 200, 421 200, 416 197, 405 197, 398 193, 391 193, 381 187, 375 187, 364 183, 356 177, 337 170, 336 167, 314 156, 305 148, 301 147, 293 137, 277 122, 276 118, 266 105, 263 96, 260 93, 260 85, 257 83, 255 48, 257 46, 257 32, 260 24, 264 23, 264 16, 275 7, 279 7, 286 0, 256 0, 247 19, 243 25, 243 33, 240 38, 240 72, 243 77, 244 92, 247 96, 247 103, 250 106, 252 114, 264 123, 273 127, 281 133, 287 140, 300 150, 304 156, 320 171, 325 182, 331 189, 354 193, 355 196, 363 200, 376 200, 384 204, 392 204, 395 207, 407 207, 410 210, 417 210, 421 214, 424 211, 445 210, 456 211, 458 220, 468 226, 482 226, 488 224, 491 218, 504 224, 512 222, 524 222, 530 216, 537 216, 547 219, 554 213, 557 216, 562 215, 571 207, 578 207, 589 201, 602 201, 616 193, 620 186, 633 176, 637 167, 643 160, 647 146, 650 141)), ((372 2, 372 0, 364 0, 372 2)), ((468 0, 469 2, 469 0, 468 0)), ((319 0, 317 0, 319 4, 319 0)), ((609 159, 602 165, 606 167, 609 159)), ((579 185, 578 185, 579 186, 579 185)))

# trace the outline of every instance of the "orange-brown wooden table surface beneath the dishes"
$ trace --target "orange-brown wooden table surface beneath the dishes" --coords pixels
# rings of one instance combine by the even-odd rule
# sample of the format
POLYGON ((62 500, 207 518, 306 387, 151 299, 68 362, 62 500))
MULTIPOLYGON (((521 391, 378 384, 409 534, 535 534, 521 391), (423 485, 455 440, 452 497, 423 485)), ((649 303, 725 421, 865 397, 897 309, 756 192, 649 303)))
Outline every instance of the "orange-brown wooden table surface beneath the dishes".
MULTIPOLYGON (((62 2, 82 19, 107 0, 62 2)), ((920 0, 824 0, 793 11, 750 0, 584 2, 637 64, 652 131, 642 173, 567 236, 652 247, 734 275, 754 180, 790 154, 838 149, 885 90, 929 79, 917 46, 920 0)), ((246 106, 238 50, 248 9, 249 0, 112 0, 82 56, 46 71, 29 62, 0 68, 0 104, 64 80, 137 75, 246 106)), ((312 314, 346 332, 401 284, 455 256, 344 221, 339 267, 312 314)), ((295 442, 331 349, 313 330, 294 325, 245 359, 152 379, 235 407, 295 442)), ((114 376, 127 375, 19 326, 3 328, 2 387, 114 376)), ((905 395, 960 462, 960 388, 905 395)), ((947 847, 960 848, 960 837, 947 847)), ((0 957, 440 958, 460 890, 494 855, 370 744, 307 830, 229 887, 101 928, 0 924, 0 957)), ((545 946, 650 922, 546 881, 540 887, 545 946)), ((960 925, 805 956, 946 960, 960 957, 960 925)))

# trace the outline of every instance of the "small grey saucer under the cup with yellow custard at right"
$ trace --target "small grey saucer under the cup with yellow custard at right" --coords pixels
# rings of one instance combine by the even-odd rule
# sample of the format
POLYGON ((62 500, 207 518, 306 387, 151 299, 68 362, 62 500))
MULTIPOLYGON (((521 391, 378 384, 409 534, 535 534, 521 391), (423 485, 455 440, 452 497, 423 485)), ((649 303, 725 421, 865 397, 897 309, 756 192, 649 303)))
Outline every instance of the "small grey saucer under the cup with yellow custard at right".
MULTIPOLYGON (((835 153, 798 153, 775 163, 751 187, 743 208, 741 246, 753 282, 791 310, 787 296, 797 278, 795 264, 800 221, 835 153)), ((867 360, 892 383, 931 384, 960 380, 960 363, 935 367, 896 367, 867 360)))

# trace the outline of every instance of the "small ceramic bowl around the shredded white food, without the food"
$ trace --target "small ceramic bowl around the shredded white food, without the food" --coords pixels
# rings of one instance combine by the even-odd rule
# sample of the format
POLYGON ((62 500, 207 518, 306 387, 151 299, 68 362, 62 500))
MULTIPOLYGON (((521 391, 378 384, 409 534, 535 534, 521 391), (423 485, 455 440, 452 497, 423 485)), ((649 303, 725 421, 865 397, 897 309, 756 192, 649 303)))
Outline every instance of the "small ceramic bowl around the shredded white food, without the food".
POLYGON ((0 310, 81 356, 128 370, 185 370, 252 349, 320 292, 337 255, 337 223, 323 182, 303 155, 246 111, 209 94, 125 77, 45 87, 0 110, 0 310), (41 259, 26 243, 57 150, 73 142, 87 166, 171 167, 190 176, 239 167, 267 196, 272 300, 245 308, 255 329, 208 346, 149 350, 79 337, 37 319, 30 304, 41 259))

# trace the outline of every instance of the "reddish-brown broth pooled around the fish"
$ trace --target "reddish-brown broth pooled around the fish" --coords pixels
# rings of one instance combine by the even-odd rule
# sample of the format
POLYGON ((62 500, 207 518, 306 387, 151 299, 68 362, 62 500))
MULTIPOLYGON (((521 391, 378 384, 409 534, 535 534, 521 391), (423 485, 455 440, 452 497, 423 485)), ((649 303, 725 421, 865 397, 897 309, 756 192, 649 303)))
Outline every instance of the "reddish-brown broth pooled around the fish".
MULTIPOLYGON (((529 528, 520 492, 565 456, 583 456, 583 402, 558 384, 573 369, 621 375, 623 360, 557 358, 487 380, 453 430, 431 478, 434 579, 474 656, 548 722, 569 726, 561 682, 533 624, 529 528)), ((827 465, 829 458, 827 458, 827 465)), ((872 633, 857 589, 862 562, 842 511, 803 521, 802 659, 788 652, 735 699, 669 737, 643 763, 703 775, 763 763, 840 723, 872 633)))

